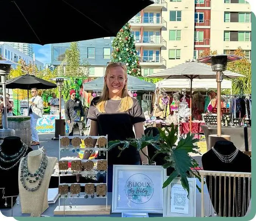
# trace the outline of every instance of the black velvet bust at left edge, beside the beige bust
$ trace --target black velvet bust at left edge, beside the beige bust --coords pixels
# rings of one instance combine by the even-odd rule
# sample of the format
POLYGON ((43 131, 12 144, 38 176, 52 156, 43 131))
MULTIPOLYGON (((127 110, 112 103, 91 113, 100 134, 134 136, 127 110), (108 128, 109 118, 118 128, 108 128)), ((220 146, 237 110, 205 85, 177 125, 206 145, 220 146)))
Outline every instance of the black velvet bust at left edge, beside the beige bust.
MULTIPOLYGON (((22 148, 23 143, 20 140, 20 137, 12 136, 5 137, 3 143, 1 145, 2 153, 7 155, 14 155, 19 152, 20 148, 22 148)), ((28 148, 26 151, 27 155, 33 149, 28 148)), ((22 157, 22 156, 21 156, 22 157)), ((4 168, 9 168, 13 165, 14 162, 4 163, 0 162, 0 165, 4 168)), ((17 196, 19 195, 19 186, 18 186, 18 171, 19 171, 19 163, 15 167, 12 167, 9 170, 0 169, 0 187, 5 188, 5 196, 17 196)), ((3 192, 0 190, 0 208, 10 208, 11 207, 11 198, 7 198, 7 207, 5 206, 5 199, 3 197, 3 192)), ((16 202, 16 197, 13 198, 13 204, 16 202)))

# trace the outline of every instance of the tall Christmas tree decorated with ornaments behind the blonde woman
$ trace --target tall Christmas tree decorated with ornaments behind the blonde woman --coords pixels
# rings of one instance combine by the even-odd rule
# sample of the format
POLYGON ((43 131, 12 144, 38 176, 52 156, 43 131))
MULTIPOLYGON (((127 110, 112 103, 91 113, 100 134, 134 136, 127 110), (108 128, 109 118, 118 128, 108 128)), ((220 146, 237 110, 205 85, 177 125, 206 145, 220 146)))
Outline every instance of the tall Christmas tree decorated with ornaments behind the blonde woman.
POLYGON ((127 73, 132 76, 141 76, 139 57, 135 48, 131 25, 126 23, 112 41, 112 61, 124 62, 127 73))

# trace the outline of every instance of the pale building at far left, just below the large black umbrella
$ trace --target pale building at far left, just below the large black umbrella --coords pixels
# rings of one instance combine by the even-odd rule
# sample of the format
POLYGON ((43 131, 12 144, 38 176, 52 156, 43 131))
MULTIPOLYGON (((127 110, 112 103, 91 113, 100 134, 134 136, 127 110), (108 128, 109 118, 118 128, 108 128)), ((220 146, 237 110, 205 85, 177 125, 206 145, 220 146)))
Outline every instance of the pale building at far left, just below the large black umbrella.
MULTIPOLYGON (((33 64, 33 56, 28 56, 27 54, 24 54, 11 47, 11 45, 0 44, 0 54, 2 55, 2 58, 17 64, 19 59, 25 61, 26 64, 33 64)), ((34 61, 34 65, 36 65, 38 70, 42 70, 44 68, 44 64, 37 60, 34 61)))

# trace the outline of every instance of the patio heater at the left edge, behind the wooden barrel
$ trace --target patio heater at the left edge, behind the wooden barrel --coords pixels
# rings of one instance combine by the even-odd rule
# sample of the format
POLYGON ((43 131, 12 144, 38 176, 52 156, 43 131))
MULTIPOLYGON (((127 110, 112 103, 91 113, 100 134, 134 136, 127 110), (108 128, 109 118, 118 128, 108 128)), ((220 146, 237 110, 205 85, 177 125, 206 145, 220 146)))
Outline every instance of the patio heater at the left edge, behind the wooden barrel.
POLYGON ((4 118, 2 118, 2 121, 5 122, 5 127, 3 129, 0 129, 0 143, 3 142, 3 139, 5 137, 15 136, 15 130, 8 128, 8 122, 7 122, 7 108, 6 108, 6 76, 9 74, 11 70, 11 65, 14 64, 10 61, 0 61, 0 76, 1 76, 1 83, 3 87, 3 109, 4 109, 4 118))

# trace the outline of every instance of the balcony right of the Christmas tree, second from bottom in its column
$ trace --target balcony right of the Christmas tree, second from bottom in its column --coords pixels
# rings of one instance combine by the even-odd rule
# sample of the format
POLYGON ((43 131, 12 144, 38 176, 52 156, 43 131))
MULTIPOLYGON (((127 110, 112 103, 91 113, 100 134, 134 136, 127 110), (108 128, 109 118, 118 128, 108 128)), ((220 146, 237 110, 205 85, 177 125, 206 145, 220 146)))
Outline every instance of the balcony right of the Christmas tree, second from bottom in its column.
POLYGON ((150 36, 150 37, 136 37, 135 38, 136 46, 143 47, 162 47, 166 48, 166 40, 160 36, 150 36))

